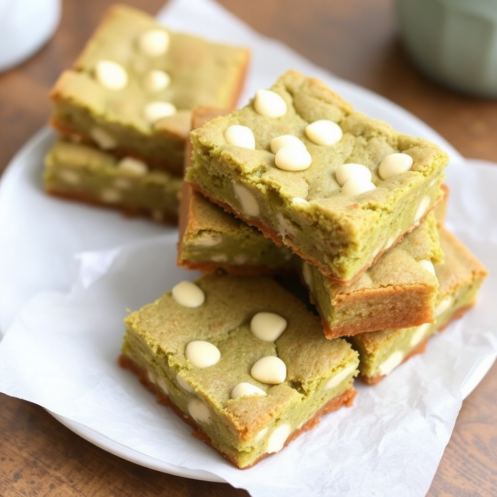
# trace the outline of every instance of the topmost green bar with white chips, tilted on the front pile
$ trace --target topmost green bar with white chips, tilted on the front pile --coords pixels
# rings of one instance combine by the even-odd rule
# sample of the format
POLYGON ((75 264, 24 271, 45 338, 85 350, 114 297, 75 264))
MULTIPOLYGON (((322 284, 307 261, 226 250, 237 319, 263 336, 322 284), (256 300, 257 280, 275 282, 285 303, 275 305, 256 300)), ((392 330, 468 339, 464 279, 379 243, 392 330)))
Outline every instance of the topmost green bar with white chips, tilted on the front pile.
POLYGON ((343 285, 441 200, 448 163, 437 145, 355 111, 324 83, 295 71, 258 90, 242 109, 193 130, 190 139, 185 178, 194 188, 343 285), (243 127, 237 139, 232 125, 243 127), (294 135, 305 148, 287 145, 274 154, 271 141, 282 135, 294 135), (382 179, 380 163, 399 153, 413 159, 412 167, 392 177, 382 172, 382 179), (337 169, 350 163, 368 169, 371 180, 348 183, 372 190, 340 186, 337 169))

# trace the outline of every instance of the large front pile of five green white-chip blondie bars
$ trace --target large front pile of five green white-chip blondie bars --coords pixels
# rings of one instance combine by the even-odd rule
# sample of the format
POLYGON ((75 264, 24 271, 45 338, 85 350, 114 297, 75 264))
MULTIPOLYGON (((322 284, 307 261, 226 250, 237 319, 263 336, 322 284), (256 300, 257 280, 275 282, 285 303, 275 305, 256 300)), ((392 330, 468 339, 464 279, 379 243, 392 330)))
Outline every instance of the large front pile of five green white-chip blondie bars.
POLYGON ((192 128, 177 263, 204 275, 126 319, 121 364, 246 468, 420 352, 486 270, 443 227, 447 155, 316 79, 192 128))

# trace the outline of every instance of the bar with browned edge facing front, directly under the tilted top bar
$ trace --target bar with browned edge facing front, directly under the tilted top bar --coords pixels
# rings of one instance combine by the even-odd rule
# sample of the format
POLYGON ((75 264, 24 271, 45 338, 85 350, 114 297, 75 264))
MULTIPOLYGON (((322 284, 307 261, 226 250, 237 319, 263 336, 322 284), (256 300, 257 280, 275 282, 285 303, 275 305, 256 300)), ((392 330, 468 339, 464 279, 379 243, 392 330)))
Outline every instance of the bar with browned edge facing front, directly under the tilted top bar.
POLYGON ((334 338, 434 322, 438 280, 433 265, 443 258, 437 221, 429 212, 349 286, 339 285, 307 262, 300 272, 325 335, 334 338))

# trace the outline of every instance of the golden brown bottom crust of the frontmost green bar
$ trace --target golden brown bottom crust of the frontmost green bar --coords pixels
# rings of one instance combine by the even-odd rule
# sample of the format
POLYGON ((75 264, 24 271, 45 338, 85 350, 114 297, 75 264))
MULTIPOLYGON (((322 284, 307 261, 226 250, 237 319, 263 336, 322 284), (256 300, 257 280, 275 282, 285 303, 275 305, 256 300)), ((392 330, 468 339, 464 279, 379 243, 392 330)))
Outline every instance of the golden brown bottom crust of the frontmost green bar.
MULTIPOLYGON (((210 442, 210 439, 205 435, 204 431, 197 426, 197 424, 191 419, 189 416, 184 414, 182 411, 180 411, 171 401, 170 399, 164 395, 162 391, 160 391, 153 383, 148 378, 147 375, 147 370, 135 362, 133 362, 129 357, 121 354, 118 358, 118 363, 119 366, 125 369, 131 370, 133 373, 135 373, 142 385, 144 385, 148 390, 150 390, 152 393, 154 393, 157 397, 157 402, 160 404, 164 404, 166 406, 169 406, 172 411, 178 415, 183 421, 185 421, 187 424, 189 424, 192 428, 192 435, 195 436, 196 438, 199 438, 202 440, 204 443, 212 447, 216 452, 218 452, 224 459, 226 459, 228 462, 231 464, 235 465, 237 468, 239 468, 238 464, 236 461, 233 461, 229 459, 229 457, 226 454, 223 454, 222 452, 219 452, 210 442)), ((303 431, 309 431, 315 426, 319 424, 319 421, 321 419, 321 416, 324 414, 330 413, 332 411, 336 411, 340 409, 341 407, 350 407, 352 406, 354 402, 354 398, 357 394, 357 391, 354 390, 353 388, 350 388, 349 390, 346 390, 339 396, 331 399, 327 404, 325 404, 311 419, 309 419, 303 426, 301 426, 299 429, 295 430, 293 433, 290 434, 290 436, 287 438, 284 447, 286 447, 292 440, 297 438, 303 431)), ((257 464, 259 461, 262 459, 265 459, 267 456, 270 456, 271 454, 264 454, 263 456, 259 457, 253 464, 250 466, 246 466, 244 468, 240 469, 248 469, 257 464)))

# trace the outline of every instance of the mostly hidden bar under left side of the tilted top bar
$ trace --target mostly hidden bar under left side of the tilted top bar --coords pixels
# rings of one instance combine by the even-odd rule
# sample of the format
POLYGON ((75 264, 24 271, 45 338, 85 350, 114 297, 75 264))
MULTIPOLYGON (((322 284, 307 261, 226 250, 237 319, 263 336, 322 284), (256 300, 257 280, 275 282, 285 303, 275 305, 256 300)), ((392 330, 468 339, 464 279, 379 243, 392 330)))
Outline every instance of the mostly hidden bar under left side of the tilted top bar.
MULTIPOLYGON (((227 111, 197 107, 192 129, 227 111)), ((185 169, 191 164, 187 142, 185 169)), ((184 182, 179 210, 177 264, 188 269, 256 275, 295 271, 298 257, 289 248, 278 247, 262 233, 210 202, 184 182)))

